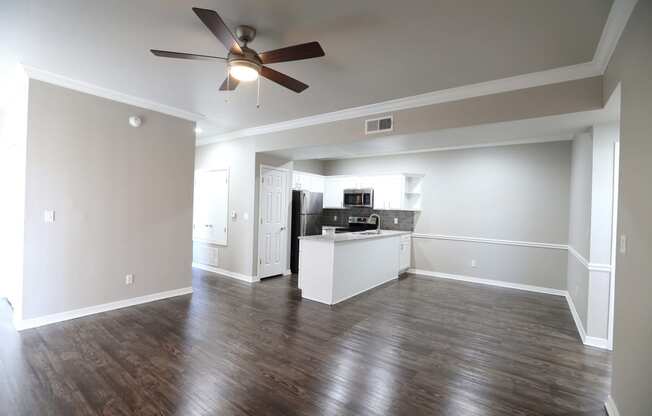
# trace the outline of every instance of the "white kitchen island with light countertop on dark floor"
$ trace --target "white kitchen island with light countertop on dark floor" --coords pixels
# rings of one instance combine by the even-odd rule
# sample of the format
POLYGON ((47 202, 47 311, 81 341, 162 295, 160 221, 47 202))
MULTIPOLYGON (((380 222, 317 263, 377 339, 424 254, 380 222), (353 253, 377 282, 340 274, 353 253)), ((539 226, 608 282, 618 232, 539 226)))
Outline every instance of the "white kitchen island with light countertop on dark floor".
POLYGON ((408 231, 299 237, 302 297, 334 305, 396 279, 408 231))

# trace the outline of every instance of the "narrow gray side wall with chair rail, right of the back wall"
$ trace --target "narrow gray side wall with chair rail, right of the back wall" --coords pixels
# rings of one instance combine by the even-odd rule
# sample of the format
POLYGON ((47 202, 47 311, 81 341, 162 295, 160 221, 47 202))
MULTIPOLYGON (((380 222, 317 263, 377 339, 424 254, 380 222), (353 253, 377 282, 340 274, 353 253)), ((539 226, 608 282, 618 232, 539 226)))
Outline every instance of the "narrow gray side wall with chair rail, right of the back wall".
MULTIPOLYGON (((589 259, 591 241, 591 178, 593 139, 590 133, 573 140, 570 181, 568 245, 589 259)), ((570 251, 567 288, 584 329, 588 327, 589 270, 570 251)))

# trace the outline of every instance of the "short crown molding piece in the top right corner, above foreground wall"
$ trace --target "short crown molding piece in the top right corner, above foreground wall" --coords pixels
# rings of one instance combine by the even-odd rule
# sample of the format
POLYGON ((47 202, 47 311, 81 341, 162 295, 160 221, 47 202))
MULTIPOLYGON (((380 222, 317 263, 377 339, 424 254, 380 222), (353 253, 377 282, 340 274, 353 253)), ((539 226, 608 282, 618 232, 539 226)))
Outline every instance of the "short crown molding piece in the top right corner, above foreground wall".
POLYGON ((607 70, 611 55, 616 50, 620 35, 625 30, 627 21, 637 2, 638 0, 614 0, 611 5, 607 22, 602 29, 602 35, 600 36, 600 41, 598 42, 598 47, 595 50, 592 61, 599 68, 601 74, 604 74, 607 70))

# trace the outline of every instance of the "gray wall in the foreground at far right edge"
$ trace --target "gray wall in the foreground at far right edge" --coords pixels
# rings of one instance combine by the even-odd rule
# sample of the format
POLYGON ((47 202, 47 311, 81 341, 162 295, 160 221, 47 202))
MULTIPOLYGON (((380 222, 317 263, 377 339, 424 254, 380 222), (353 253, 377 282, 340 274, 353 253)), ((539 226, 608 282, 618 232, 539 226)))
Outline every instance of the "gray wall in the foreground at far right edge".
POLYGON ((622 88, 612 396, 622 416, 652 409, 652 1, 640 0, 605 73, 604 99, 622 88))

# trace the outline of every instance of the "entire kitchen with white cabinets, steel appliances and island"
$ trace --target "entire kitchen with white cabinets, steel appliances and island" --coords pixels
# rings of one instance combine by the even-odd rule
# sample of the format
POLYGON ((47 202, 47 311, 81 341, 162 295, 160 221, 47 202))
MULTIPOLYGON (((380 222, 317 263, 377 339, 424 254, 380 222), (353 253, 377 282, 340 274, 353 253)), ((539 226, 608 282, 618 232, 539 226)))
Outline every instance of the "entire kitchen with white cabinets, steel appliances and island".
POLYGON ((292 178, 291 270, 304 298, 332 305, 407 271, 423 175, 292 178))

